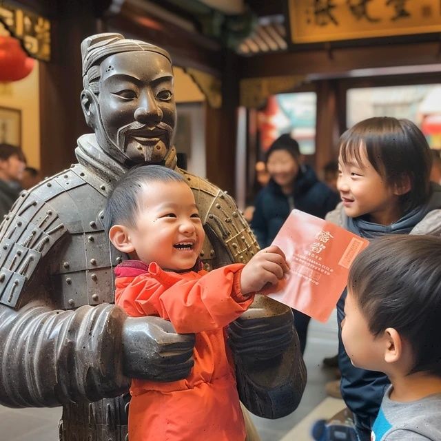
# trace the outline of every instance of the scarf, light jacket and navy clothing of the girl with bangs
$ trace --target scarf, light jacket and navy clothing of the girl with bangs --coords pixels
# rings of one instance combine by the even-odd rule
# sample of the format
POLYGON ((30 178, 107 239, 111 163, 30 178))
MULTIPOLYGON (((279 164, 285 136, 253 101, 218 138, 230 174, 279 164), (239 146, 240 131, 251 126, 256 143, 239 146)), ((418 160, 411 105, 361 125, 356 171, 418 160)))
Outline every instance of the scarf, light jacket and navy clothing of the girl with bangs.
MULTIPOLYGON (((429 201, 405 214, 391 225, 369 223, 362 217, 348 218, 342 204, 330 212, 326 219, 368 239, 384 234, 441 236, 441 187, 432 183, 432 194, 429 201)), ((390 383, 384 373, 353 367, 347 356, 342 344, 340 327, 345 317, 343 309, 345 308, 346 294, 345 290, 337 304, 338 364, 342 373, 340 388, 347 407, 358 417, 358 423, 369 430, 377 416, 378 409, 380 409, 384 391, 390 383)))

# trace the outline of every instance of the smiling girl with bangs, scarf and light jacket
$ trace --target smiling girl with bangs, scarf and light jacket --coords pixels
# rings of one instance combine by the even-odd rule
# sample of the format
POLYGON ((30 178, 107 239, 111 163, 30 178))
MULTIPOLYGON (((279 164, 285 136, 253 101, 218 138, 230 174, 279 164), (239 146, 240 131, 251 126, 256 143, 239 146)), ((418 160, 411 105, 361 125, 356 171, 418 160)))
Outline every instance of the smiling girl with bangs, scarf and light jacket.
MULTIPOLYGON (((364 238, 386 234, 441 235, 441 187, 430 183, 431 154, 411 121, 377 117, 340 137, 338 191, 342 202, 327 215, 364 238)), ((351 364, 341 339, 347 291, 337 305, 342 397, 354 416, 360 441, 369 441, 389 380, 351 364)))

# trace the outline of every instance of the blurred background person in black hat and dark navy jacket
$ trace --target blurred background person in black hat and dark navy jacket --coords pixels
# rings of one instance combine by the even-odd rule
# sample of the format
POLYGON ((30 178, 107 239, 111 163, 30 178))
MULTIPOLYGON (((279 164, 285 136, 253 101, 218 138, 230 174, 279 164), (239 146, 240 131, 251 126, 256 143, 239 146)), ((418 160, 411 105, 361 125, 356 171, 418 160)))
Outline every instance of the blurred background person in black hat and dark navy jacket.
MULTIPOLYGON (((251 222, 262 248, 271 245, 294 208, 325 218, 327 212, 334 209, 339 201, 338 194, 320 182, 314 170, 300 163, 299 158, 298 143, 289 134, 279 136, 267 150, 265 163, 270 179, 256 196, 251 222)), ((300 311, 293 312, 303 353, 310 317, 300 311)))

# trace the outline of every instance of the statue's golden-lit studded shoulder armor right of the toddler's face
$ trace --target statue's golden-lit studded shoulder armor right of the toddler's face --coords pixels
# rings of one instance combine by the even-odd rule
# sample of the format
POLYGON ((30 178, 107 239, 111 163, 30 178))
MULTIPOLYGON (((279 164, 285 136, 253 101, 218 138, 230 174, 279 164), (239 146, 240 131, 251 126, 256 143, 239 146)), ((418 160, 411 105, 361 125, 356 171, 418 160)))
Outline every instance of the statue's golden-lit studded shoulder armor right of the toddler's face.
POLYGON ((185 170, 179 172, 194 193, 207 233, 208 242, 201 257, 209 269, 232 262, 246 263, 258 252, 258 245, 234 199, 207 179, 185 170))

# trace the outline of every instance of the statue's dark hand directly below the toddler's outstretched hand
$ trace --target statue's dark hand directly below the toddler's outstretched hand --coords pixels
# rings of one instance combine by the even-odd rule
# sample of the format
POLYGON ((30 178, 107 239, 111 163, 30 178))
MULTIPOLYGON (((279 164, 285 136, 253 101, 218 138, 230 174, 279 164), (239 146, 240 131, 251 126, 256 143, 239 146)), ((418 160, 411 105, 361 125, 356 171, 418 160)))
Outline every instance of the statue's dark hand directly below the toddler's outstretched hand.
POLYGON ((244 361, 267 360, 283 353, 294 336, 294 317, 289 307, 265 296, 230 323, 229 346, 244 361))

